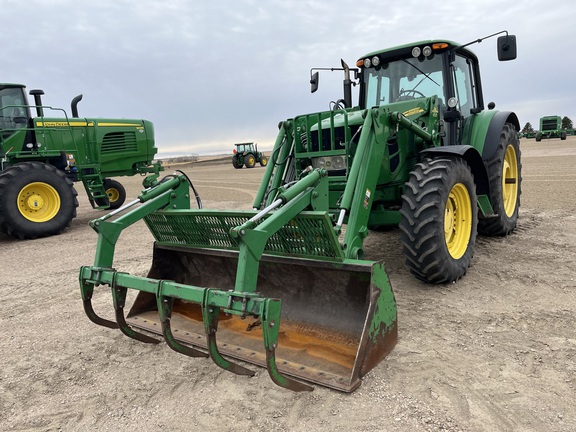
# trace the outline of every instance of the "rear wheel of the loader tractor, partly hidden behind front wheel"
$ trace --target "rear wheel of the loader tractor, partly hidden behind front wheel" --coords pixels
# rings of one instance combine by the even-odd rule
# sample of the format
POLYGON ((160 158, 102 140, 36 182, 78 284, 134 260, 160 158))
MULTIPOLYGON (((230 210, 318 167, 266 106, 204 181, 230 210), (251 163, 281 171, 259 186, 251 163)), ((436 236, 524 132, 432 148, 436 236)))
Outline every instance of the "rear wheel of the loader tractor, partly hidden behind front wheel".
POLYGON ((486 165, 495 216, 480 219, 478 232, 487 236, 505 236, 516 228, 522 191, 520 143, 512 124, 506 123, 502 128, 496 152, 486 165))

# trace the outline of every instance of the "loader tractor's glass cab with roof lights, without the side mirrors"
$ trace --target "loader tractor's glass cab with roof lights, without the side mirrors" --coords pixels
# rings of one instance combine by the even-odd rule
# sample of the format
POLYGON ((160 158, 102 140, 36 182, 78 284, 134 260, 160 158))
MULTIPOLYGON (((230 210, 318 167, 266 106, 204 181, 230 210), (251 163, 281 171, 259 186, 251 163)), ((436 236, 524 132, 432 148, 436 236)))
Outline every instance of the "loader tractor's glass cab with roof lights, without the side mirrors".
POLYGON ((374 52, 357 66, 361 108, 434 97, 446 144, 459 144, 466 119, 484 109, 478 59, 454 42, 423 41, 374 52))

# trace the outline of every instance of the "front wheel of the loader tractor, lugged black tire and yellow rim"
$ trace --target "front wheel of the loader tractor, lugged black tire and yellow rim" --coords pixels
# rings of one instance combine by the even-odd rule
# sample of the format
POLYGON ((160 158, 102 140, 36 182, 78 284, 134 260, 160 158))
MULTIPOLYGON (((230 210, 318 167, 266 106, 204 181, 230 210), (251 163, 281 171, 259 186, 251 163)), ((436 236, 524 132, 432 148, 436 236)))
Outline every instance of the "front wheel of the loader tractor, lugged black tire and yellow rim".
POLYGON ((474 254, 477 212, 474 178, 463 159, 416 164, 400 210, 400 240, 410 273, 434 284, 464 276, 474 254))

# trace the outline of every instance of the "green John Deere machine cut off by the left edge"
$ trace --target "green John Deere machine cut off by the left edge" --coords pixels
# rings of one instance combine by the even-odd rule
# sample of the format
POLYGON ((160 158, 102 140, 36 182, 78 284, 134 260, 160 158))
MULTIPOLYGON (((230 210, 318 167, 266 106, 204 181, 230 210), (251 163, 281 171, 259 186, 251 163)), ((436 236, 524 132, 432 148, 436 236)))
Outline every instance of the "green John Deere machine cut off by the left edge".
POLYGON ((42 90, 30 91, 31 107, 24 89, 0 84, 0 231, 17 239, 59 234, 76 216, 74 182, 82 182, 92 207, 100 209, 118 209, 126 199, 112 177, 152 173, 143 184, 154 184, 162 167, 153 163, 152 123, 79 118, 82 95, 73 99, 68 118, 42 105, 42 90), (61 117, 45 116, 48 110, 61 117))

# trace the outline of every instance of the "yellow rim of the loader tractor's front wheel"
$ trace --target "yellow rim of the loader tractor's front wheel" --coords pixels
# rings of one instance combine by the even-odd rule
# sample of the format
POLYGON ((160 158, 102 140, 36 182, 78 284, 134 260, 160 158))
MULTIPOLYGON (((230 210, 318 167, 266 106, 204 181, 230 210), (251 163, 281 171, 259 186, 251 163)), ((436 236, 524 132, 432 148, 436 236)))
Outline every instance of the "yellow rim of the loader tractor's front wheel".
POLYGON ((472 234, 472 202, 468 189, 462 183, 454 185, 446 201, 444 234, 452 258, 461 258, 466 253, 472 234))

